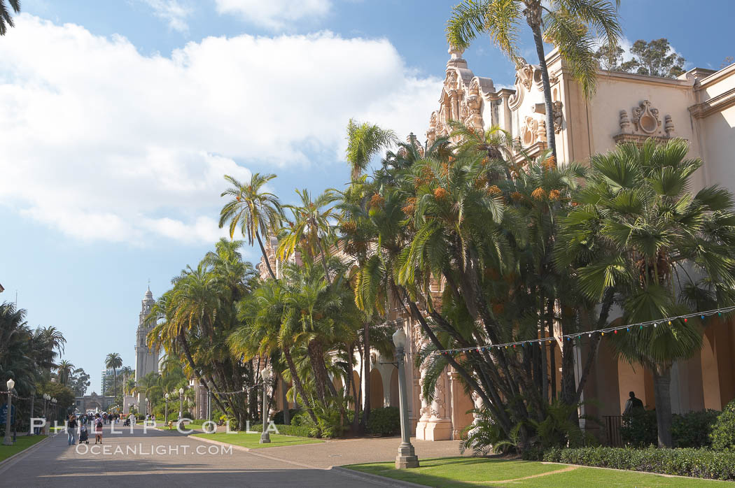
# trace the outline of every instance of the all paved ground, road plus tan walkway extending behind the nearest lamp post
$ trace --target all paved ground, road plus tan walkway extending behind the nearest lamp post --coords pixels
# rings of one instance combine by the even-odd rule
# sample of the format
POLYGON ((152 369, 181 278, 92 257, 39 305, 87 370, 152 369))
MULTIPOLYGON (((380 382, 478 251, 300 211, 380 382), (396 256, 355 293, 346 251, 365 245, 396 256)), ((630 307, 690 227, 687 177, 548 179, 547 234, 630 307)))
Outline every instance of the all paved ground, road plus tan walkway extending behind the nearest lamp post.
MULTIPOLYGON (((137 426, 121 434, 105 426, 104 443, 68 446, 59 434, 10 463, 0 465, 3 486, 10 487, 376 487, 326 468, 355 462, 387 461, 398 439, 342 440, 257 451, 204 443, 178 432, 137 426), (87 451, 89 448, 89 451, 87 451), (104 449, 105 451, 101 451, 104 449)), ((420 456, 456 455, 457 443, 418 441, 420 456)), ((398 484, 394 484, 398 486, 398 484)))

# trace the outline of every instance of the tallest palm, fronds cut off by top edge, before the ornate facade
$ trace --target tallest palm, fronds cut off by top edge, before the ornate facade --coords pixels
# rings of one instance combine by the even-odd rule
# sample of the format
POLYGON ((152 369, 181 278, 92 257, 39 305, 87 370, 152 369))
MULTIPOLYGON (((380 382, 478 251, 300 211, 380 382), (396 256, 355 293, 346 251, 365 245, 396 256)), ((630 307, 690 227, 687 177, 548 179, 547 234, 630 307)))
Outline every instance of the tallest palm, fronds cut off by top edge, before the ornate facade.
POLYGON ((622 35, 617 21, 619 6, 620 0, 464 0, 454 7, 447 22, 447 40, 454 48, 465 49, 479 34, 489 34, 495 45, 514 62, 519 62, 518 30, 521 19, 526 18, 541 67, 546 140, 556 159, 553 101, 544 41, 559 48, 562 59, 570 65, 573 78, 589 97, 595 92, 598 39, 614 46, 622 35))

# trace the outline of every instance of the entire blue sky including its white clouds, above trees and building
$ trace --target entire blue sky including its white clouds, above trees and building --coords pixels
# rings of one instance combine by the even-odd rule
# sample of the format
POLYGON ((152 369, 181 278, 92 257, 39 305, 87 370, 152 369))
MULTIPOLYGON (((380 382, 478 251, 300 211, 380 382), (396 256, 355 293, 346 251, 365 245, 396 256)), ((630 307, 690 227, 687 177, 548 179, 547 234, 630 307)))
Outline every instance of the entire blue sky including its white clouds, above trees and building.
MULTIPOLYGON (((295 186, 348 179, 349 117, 423 133, 452 4, 25 0, 0 38, 1 299, 17 291, 29 324, 61 329, 99 391, 107 353, 135 366, 148 279, 158 296, 220 235, 224 173, 276 172, 293 201, 295 186)), ((687 68, 719 68, 735 4, 701 5, 624 0, 625 37, 667 37, 687 68)), ((487 39, 465 58, 512 85, 487 39)))

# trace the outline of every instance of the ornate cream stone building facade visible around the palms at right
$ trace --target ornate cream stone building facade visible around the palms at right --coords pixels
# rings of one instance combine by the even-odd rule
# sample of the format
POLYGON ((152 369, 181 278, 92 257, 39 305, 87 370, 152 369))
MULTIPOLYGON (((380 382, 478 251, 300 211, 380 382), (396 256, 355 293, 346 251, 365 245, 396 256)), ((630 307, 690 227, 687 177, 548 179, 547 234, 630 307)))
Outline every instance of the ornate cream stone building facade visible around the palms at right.
MULTIPOLYGON (((451 123, 457 121, 480 134, 496 125, 509 132, 528 156, 544 150, 548 141, 539 66, 519 59, 514 90, 495 90, 491 79, 475 76, 467 68, 462 51, 449 52, 439 107, 429 116, 426 143, 431 145, 437 138, 451 134, 451 123)), ((678 79, 600 71, 597 92, 587 100, 556 50, 548 54, 546 62, 559 164, 587 161, 592 153, 606 152, 620 142, 642 143, 648 138, 663 142, 682 137, 691 144, 689 157, 705 161, 703 169, 695 174, 696 185, 701 188, 719 183, 735 192, 731 162, 735 154, 735 65, 717 72, 695 68, 678 79)), ((420 329, 414 327, 412 335, 416 347, 420 347, 420 329)), ((561 348, 555 349, 559 365, 561 348)), ((584 350, 575 348, 573 354, 576 363, 584 362, 584 350)), ((709 329, 700 354, 674 368, 674 411, 719 409, 735 398, 733 357, 735 332, 730 324, 709 329)), ((423 383, 423 372, 417 371, 417 376, 418 382, 423 383)), ((560 381, 559 375, 556 379, 560 381)), ((642 368, 634 370, 600 352, 598 367, 593 369, 583 396, 594 398, 600 406, 583 407, 588 409, 584 413, 598 417, 620 415, 629 390, 635 390, 640 398, 645 398, 645 404, 653 407, 650 385, 650 374, 642 368)), ((453 371, 446 371, 440 379, 433 401, 423 398, 418 388, 417 393, 419 439, 458 438, 473 421, 465 412, 473 405, 480 406, 477 398, 465 395, 453 371), (450 426, 445 428, 446 423, 450 426)))

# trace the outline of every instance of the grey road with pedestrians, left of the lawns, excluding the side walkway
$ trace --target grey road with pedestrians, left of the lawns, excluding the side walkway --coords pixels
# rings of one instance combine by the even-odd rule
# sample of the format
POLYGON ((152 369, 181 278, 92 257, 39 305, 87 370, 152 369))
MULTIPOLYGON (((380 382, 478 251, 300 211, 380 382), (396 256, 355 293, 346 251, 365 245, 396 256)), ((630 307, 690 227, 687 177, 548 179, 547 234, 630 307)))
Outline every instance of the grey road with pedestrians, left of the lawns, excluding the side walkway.
MULTIPOLYGON (((256 451, 222 448, 182 434, 138 426, 103 443, 67 444, 65 434, 0 466, 3 487, 345 487, 384 486, 335 470, 307 467, 256 451)), ((302 446, 308 450, 309 445, 302 446)), ((268 451, 268 449, 261 450, 268 451)))

